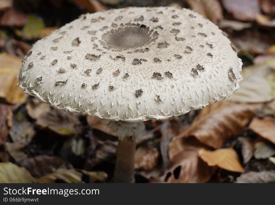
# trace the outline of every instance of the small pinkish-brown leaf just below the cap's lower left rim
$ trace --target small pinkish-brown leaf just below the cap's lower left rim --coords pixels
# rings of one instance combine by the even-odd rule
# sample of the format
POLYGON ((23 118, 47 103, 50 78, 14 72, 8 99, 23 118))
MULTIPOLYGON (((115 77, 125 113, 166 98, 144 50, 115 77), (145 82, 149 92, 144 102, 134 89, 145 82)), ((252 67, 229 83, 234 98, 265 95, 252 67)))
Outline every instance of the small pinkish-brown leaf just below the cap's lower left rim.
POLYGON ((35 98, 29 99, 26 104, 27 113, 32 119, 37 119, 43 113, 50 111, 50 108, 50 105, 35 98))

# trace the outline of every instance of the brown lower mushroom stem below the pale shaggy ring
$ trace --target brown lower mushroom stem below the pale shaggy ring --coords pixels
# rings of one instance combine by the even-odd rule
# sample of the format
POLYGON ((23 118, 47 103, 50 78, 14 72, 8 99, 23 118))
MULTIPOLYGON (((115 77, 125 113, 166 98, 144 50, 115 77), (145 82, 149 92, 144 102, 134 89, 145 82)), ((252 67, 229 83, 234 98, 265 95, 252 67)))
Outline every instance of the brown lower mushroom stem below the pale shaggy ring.
POLYGON ((117 161, 113 181, 115 183, 134 183, 134 162, 136 140, 132 136, 118 140, 117 161))

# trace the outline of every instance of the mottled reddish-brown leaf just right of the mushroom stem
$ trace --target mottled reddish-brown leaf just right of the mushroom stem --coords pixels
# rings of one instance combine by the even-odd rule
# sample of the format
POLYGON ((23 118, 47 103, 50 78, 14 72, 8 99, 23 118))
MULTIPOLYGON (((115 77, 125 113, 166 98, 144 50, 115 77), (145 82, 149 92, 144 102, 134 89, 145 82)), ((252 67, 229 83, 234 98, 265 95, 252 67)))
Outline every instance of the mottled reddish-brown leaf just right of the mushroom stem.
POLYGON ((159 152, 153 147, 142 146, 136 150, 135 169, 153 170, 158 164, 159 152))

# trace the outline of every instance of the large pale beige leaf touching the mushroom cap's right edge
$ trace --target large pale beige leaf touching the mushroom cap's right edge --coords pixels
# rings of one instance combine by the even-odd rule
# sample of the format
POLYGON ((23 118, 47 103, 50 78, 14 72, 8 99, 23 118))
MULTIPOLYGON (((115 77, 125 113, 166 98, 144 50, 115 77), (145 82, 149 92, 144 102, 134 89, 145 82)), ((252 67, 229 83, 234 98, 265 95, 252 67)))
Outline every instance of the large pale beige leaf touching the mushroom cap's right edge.
POLYGON ((248 66, 241 71, 240 88, 226 100, 242 103, 263 103, 275 98, 275 71, 266 63, 248 66))

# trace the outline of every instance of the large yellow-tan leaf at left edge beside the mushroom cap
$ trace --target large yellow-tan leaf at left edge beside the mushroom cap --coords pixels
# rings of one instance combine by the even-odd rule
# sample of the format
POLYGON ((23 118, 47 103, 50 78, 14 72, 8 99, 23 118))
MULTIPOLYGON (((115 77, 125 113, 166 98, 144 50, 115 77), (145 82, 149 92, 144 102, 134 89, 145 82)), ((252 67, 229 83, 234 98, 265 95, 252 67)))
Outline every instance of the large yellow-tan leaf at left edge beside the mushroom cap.
POLYGON ((21 58, 0 53, 0 97, 11 104, 23 103, 28 96, 17 85, 21 61, 21 58))

